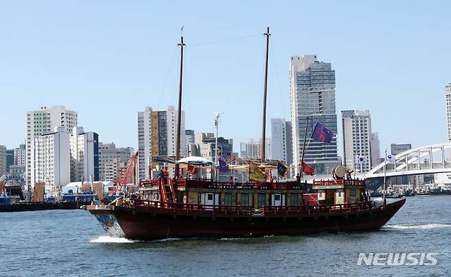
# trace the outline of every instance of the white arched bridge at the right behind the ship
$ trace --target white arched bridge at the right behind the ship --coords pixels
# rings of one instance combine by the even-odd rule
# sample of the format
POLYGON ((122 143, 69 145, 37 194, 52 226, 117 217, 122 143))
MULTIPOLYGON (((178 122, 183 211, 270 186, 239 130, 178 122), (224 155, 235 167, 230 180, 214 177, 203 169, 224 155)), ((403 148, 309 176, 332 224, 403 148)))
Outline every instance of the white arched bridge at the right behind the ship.
MULTIPOLYGON (((395 163, 384 161, 367 172, 363 178, 367 180, 369 187, 379 187, 383 182, 384 167, 387 179, 398 176, 451 172, 450 149, 451 142, 446 142, 406 150, 395 155, 395 163)), ((389 182, 387 181, 387 183, 389 182)))

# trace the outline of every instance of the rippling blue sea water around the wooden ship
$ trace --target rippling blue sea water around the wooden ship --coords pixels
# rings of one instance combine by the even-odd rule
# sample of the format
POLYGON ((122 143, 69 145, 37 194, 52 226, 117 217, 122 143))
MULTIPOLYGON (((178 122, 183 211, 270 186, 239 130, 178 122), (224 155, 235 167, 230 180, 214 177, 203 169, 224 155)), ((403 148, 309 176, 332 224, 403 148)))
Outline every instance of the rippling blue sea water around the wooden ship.
POLYGON ((409 197, 377 231, 250 239, 131 241, 87 211, 0 213, 0 253, 0 276, 451 276, 451 196, 409 197), (437 263, 358 265, 361 253, 437 263))

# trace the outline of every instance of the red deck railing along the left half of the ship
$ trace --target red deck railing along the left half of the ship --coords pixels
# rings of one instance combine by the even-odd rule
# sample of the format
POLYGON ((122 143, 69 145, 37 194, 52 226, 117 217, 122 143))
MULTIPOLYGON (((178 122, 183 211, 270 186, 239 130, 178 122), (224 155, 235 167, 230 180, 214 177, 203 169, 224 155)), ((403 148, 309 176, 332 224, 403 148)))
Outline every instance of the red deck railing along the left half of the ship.
POLYGON ((152 200, 135 199, 133 206, 136 209, 147 209, 154 211, 177 212, 177 213, 206 213, 218 215, 251 215, 251 206, 241 205, 202 205, 202 204, 184 204, 175 202, 162 202, 152 200))

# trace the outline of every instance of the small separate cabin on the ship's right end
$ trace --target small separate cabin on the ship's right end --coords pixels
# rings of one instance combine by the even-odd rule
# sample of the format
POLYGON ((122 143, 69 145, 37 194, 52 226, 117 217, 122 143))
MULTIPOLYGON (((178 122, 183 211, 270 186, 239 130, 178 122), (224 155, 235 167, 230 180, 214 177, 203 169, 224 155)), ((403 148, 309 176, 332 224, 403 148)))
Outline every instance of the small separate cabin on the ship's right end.
POLYGON ((313 181, 319 205, 347 205, 369 201, 364 180, 333 179, 313 181))

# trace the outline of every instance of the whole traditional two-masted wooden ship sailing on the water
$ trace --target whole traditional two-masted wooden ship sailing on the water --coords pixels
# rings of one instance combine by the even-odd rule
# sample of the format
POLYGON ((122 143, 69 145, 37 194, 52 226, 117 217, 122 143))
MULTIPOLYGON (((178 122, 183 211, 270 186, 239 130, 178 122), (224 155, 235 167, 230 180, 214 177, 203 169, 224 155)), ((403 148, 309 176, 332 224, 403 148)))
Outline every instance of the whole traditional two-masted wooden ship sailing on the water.
MULTIPOLYGON (((266 70, 263 101, 265 111, 269 28, 265 33, 266 70)), ((183 36, 180 42, 180 89, 178 136, 174 176, 162 170, 156 179, 140 181, 137 193, 108 204, 93 203, 84 209, 95 215, 113 237, 134 240, 165 238, 262 237, 376 230, 386 224, 404 205, 405 199, 387 204, 370 199, 365 181, 345 177, 345 169, 334 169, 333 179, 313 181, 313 193, 306 193, 306 182, 274 181, 272 178, 220 182, 201 174, 184 175, 184 167, 208 167, 217 172, 216 163, 200 157, 180 159, 180 111, 182 110, 183 36), (164 171, 164 172, 163 172, 164 171)), ((305 139, 304 139, 305 145, 305 139)), ((217 147, 216 147, 217 148, 217 147)), ((305 147, 304 147, 305 148, 305 147)), ((249 171, 269 172, 278 163, 265 159, 262 144, 260 161, 244 161, 249 171)), ((218 153, 216 153, 217 157, 218 153)), ((302 161, 303 162, 303 161, 302 161)), ((249 173, 249 176, 251 174, 249 173)), ((263 173, 264 175, 264 173, 263 173)))

